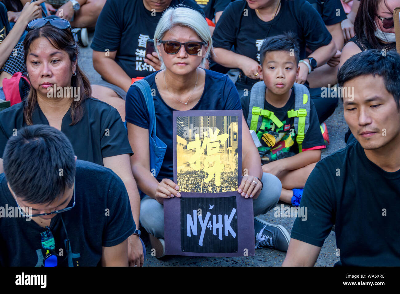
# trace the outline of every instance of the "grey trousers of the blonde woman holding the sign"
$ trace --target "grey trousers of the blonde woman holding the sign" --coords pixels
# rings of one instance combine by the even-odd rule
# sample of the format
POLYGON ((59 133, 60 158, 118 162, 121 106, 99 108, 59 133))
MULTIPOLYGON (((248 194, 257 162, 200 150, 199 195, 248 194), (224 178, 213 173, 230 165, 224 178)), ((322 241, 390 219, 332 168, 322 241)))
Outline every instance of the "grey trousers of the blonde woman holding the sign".
MULTIPOLYGON (((266 214, 274 208, 282 191, 282 184, 276 176, 264 172, 261 180, 264 188, 258 198, 253 200, 254 216, 266 214)), ((140 201, 139 220, 149 234, 156 238, 164 238, 164 206, 160 202, 150 196, 144 196, 140 201)))

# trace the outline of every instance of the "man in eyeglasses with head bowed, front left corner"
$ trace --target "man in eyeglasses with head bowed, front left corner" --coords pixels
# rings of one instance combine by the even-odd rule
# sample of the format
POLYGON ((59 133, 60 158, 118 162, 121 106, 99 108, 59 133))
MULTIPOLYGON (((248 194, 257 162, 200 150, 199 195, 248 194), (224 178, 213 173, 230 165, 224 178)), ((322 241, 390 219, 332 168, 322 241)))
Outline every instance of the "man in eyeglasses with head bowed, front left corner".
POLYGON ((19 215, 0 217, 0 266, 128 266, 137 230, 114 172, 76 160, 66 136, 44 125, 18 130, 3 165, 0 205, 19 215))

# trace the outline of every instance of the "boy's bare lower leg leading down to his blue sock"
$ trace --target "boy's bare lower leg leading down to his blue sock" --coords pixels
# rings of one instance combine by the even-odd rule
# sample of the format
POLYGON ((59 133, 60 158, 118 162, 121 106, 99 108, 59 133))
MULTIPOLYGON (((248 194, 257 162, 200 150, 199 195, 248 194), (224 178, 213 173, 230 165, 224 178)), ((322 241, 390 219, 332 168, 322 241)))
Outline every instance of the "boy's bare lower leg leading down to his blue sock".
POLYGON ((282 183, 282 192, 280 193, 280 201, 292 204, 293 189, 304 188, 308 176, 310 176, 316 163, 308 164, 303 168, 297 170, 290 170, 288 172, 281 173, 278 178, 282 183))

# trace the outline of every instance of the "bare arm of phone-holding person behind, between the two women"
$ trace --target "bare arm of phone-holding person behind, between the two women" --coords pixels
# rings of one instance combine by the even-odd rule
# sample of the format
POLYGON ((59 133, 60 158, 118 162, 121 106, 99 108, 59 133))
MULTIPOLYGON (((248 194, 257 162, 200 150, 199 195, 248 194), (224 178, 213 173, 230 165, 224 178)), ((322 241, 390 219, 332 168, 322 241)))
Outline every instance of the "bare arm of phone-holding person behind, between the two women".
POLYGON ((115 62, 116 51, 102 52, 93 50, 93 67, 107 82, 128 92, 132 78, 115 62), (109 55, 107 56, 106 55, 109 55))

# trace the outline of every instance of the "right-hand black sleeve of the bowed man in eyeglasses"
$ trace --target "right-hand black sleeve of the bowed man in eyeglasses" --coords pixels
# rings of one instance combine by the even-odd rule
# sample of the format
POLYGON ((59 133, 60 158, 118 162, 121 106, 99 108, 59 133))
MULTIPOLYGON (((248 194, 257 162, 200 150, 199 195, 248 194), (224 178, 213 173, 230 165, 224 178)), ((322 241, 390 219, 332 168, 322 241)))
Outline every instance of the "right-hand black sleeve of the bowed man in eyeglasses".
POLYGON ((107 216, 107 224, 103 230, 102 246, 104 247, 112 247, 124 242, 136 229, 128 192, 122 180, 114 172, 108 191, 107 208, 110 214, 107 216))

